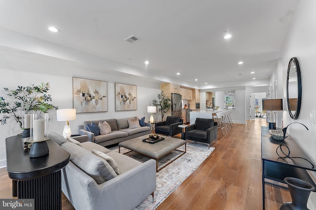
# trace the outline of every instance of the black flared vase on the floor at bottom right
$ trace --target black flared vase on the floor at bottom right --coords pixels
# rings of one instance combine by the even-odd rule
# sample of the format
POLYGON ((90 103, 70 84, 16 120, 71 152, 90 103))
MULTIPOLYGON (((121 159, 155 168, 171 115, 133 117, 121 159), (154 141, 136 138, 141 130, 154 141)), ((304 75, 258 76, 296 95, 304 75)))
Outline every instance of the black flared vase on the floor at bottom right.
POLYGON ((307 208, 307 201, 311 191, 314 191, 315 187, 309 182, 293 177, 286 177, 284 181, 288 185, 292 203, 283 204, 280 210, 309 210, 307 208))

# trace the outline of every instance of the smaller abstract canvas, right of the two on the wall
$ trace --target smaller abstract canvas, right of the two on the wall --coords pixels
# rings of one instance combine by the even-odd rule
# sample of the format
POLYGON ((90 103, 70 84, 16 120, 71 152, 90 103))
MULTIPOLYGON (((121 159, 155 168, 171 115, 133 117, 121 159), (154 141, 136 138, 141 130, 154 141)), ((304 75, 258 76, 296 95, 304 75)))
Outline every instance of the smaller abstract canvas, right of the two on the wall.
POLYGON ((137 110, 137 86, 115 83, 115 111, 137 110))

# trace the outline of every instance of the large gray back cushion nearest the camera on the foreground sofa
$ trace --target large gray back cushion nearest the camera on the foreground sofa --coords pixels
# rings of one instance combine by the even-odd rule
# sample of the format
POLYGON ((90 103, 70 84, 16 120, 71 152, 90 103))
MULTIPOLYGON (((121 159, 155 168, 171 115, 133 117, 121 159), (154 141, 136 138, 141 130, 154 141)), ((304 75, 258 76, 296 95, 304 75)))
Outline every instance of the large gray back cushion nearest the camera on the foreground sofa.
POLYGON ((70 142, 64 143, 61 147, 70 153, 70 161, 98 184, 118 176, 107 161, 90 151, 70 142))

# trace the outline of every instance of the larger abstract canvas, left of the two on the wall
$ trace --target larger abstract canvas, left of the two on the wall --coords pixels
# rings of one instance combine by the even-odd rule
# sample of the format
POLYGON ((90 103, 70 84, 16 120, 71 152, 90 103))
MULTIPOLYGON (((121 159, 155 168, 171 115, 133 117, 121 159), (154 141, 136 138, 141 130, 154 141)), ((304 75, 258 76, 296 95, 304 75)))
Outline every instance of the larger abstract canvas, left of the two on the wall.
POLYGON ((108 111, 108 82, 73 77, 73 107, 77 113, 108 111))

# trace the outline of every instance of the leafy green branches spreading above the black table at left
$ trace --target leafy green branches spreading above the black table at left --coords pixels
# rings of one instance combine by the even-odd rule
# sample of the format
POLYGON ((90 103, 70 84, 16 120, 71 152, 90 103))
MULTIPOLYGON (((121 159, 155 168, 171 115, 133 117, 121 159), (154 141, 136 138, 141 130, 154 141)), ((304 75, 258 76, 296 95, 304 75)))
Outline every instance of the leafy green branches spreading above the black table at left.
POLYGON ((6 115, 0 119, 1 124, 6 124, 6 120, 9 118, 14 118, 22 128, 24 112, 28 113, 33 110, 47 113, 49 110, 58 109, 47 103, 52 101, 51 95, 47 94, 49 88, 49 83, 41 83, 39 86, 18 86, 16 90, 4 88, 7 97, 0 97, 0 113, 6 115))

